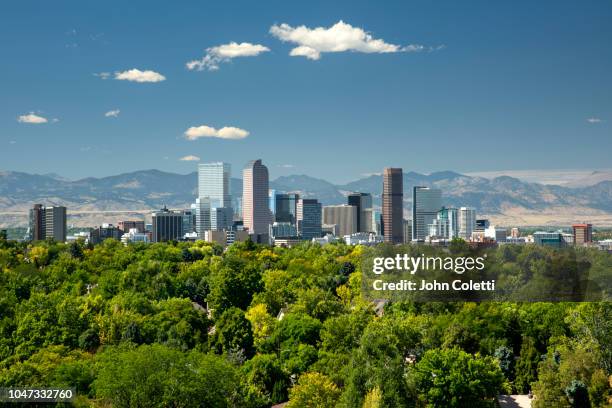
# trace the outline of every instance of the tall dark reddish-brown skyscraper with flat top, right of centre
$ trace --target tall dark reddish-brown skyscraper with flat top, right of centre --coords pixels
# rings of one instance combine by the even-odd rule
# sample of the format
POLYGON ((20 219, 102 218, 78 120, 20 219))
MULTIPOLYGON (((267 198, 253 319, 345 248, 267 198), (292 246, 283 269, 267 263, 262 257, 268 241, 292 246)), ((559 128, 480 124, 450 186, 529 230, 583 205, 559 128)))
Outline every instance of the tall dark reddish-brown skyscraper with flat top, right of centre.
POLYGON ((384 241, 404 242, 404 180, 402 169, 387 167, 383 172, 382 229, 384 241))

